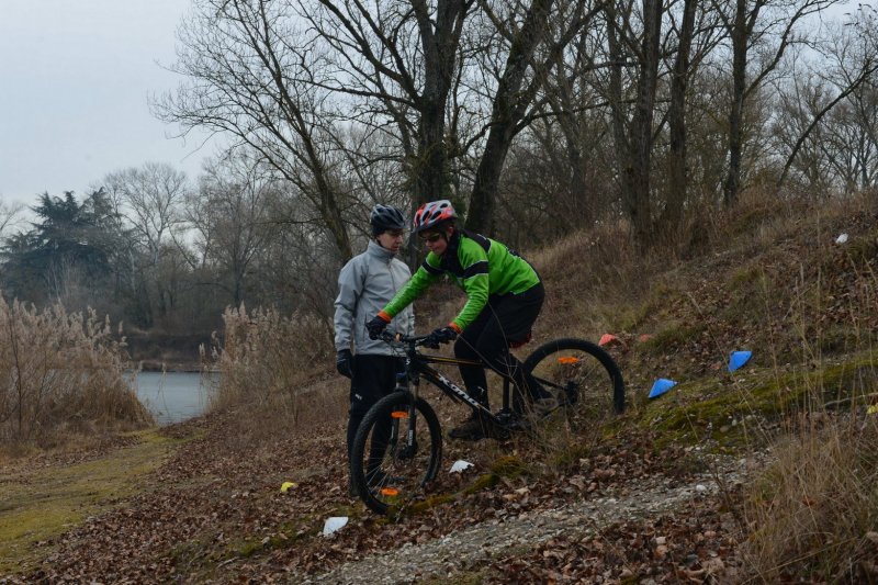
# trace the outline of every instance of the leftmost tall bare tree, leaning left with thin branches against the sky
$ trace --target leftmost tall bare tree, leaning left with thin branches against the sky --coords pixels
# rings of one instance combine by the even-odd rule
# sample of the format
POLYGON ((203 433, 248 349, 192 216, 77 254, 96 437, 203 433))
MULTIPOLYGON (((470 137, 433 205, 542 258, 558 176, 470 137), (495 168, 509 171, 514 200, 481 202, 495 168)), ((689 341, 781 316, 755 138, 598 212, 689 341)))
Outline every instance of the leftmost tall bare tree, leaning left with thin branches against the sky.
MULTIPOLYGON (((312 204, 342 259, 351 245, 331 166, 334 104, 322 89, 322 58, 292 2, 195 0, 178 33, 173 70, 189 83, 154 101, 157 115, 184 132, 227 133, 259 153, 312 204)), ((290 218, 290 221, 296 221, 290 218)))

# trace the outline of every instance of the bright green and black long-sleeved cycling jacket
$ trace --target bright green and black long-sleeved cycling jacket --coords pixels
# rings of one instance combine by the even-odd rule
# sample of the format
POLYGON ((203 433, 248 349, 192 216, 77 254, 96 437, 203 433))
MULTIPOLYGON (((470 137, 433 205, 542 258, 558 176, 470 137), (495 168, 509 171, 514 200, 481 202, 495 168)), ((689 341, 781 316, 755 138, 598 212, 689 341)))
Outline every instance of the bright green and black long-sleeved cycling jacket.
POLYGON ((449 324, 458 333, 475 320, 488 296, 520 294, 540 283, 537 271, 516 251, 480 234, 455 229, 446 252, 442 256, 429 252, 412 280, 380 315, 390 320, 443 275, 453 279, 466 293, 466 304, 449 324))

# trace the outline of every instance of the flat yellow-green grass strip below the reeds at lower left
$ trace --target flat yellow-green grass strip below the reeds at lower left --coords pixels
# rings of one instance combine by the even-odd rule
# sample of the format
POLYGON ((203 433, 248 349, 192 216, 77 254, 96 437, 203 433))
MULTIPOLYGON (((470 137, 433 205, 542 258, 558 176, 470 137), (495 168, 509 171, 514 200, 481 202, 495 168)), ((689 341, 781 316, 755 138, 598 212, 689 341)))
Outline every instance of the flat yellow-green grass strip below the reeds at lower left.
POLYGON ((139 491, 138 479, 157 469, 180 441, 156 430, 139 441, 91 461, 0 474, 0 573, 25 572, 50 552, 36 547, 85 518, 139 491))

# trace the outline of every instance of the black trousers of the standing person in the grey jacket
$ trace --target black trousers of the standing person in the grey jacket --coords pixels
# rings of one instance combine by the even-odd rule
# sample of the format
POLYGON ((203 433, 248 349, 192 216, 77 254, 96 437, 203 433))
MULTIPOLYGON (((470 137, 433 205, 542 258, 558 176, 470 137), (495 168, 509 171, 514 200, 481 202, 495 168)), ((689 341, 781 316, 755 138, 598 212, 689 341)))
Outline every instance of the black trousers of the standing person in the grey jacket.
POLYGON ((348 417, 348 454, 365 413, 396 387, 396 372, 405 362, 394 356, 357 355, 353 357, 353 378, 350 382, 348 417))

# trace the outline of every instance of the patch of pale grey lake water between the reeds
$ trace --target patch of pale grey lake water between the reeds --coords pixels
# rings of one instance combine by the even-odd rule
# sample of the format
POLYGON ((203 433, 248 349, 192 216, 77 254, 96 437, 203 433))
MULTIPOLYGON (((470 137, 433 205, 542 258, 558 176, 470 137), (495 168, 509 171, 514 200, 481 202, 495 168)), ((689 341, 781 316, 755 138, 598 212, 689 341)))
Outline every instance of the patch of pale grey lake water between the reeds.
POLYGON ((207 389, 196 372, 140 372, 135 390, 159 425, 199 416, 207 405, 207 389))

